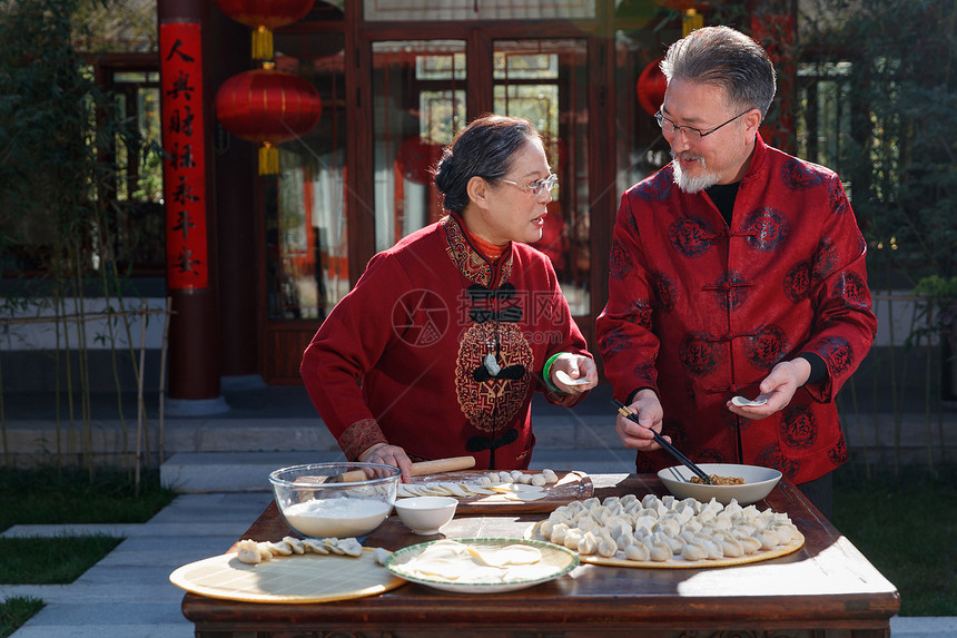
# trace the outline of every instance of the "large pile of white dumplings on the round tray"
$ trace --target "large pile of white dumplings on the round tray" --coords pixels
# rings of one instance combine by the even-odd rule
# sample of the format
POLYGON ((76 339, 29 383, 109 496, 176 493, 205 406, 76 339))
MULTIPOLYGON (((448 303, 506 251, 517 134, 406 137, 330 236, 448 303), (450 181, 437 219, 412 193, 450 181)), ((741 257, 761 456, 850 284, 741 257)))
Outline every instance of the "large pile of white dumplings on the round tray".
POLYGON ((533 531, 585 557, 641 562, 734 559, 803 541, 785 513, 655 494, 572 501, 533 531))

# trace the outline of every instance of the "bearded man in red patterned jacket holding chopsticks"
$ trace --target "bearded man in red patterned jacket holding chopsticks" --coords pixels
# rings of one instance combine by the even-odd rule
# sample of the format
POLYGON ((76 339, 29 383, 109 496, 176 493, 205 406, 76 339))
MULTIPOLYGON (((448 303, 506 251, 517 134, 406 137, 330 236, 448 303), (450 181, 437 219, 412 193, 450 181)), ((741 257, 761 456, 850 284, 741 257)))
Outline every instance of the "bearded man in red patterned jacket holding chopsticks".
POLYGON ((772 467, 830 514, 847 460, 833 396, 874 341, 867 247, 839 177, 768 147, 767 52, 727 27, 672 45, 655 114, 673 161, 622 197, 599 349, 640 472, 772 467), (738 405, 741 395, 756 405, 738 405))

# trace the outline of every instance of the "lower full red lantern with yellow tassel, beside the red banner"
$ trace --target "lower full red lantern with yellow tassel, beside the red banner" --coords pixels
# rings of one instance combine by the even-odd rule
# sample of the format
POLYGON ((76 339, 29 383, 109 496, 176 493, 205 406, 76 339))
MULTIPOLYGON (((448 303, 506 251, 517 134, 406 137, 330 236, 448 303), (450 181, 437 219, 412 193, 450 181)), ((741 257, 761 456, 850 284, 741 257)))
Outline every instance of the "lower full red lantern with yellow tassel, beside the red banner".
POLYGON ((277 174, 276 145, 309 132, 322 112, 313 85, 272 66, 233 76, 216 94, 216 117, 226 130, 262 145, 259 175, 277 174))

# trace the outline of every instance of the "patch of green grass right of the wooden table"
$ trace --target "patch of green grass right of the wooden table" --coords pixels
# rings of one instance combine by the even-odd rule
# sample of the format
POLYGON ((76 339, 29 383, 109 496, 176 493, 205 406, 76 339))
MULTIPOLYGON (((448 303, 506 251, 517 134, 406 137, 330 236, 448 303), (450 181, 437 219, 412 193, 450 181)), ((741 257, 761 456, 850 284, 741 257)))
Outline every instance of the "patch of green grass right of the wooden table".
POLYGON ((957 616, 957 465, 835 474, 838 528, 900 591, 901 616, 957 616))

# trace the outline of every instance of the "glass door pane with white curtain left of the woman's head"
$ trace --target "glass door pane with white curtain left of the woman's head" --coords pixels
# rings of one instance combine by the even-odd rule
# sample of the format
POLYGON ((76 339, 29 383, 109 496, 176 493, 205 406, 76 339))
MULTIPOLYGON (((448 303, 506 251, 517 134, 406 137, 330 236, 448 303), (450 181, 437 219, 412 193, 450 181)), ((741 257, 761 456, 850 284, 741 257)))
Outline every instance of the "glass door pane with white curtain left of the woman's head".
POLYGON ((375 249, 442 217, 432 170, 465 121, 465 42, 373 43, 375 249))

